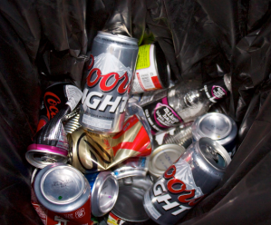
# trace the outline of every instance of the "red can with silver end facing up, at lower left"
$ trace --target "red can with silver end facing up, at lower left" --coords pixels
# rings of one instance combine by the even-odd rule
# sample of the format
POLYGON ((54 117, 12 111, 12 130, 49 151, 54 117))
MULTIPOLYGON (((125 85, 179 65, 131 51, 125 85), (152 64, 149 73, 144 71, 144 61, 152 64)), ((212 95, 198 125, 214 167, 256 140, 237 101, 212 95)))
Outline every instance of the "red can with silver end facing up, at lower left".
POLYGON ((91 186, 72 166, 63 163, 46 166, 34 179, 34 193, 47 210, 77 224, 92 224, 91 186))

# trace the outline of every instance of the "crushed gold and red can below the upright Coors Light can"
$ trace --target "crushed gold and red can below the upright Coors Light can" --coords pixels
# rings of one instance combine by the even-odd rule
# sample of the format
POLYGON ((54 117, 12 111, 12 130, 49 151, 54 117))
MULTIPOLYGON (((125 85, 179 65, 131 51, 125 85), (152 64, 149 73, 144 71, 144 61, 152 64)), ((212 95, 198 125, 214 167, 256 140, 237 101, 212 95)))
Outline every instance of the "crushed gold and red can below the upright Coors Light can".
POLYGON ((79 128, 68 135, 68 141, 70 163, 83 173, 109 170, 128 158, 151 153, 149 134, 136 115, 117 134, 86 132, 79 128))

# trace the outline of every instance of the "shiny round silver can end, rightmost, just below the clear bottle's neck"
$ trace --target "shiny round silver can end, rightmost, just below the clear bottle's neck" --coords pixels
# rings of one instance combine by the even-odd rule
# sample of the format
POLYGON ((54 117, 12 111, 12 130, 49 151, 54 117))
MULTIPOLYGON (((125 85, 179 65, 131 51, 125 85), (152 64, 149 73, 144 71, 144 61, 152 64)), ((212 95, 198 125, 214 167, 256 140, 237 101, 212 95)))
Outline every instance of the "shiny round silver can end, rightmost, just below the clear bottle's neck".
POLYGON ((198 140, 200 137, 208 137, 212 140, 226 138, 233 129, 229 117, 218 112, 210 112, 200 116, 193 124, 193 136, 198 140))

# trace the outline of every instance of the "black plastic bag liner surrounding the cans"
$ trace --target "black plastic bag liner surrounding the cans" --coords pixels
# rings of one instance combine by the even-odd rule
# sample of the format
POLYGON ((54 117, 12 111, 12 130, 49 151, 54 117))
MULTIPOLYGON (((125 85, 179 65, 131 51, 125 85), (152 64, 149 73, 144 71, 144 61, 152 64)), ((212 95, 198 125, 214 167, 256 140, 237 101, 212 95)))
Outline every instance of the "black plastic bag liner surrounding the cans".
POLYGON ((216 190, 180 222, 269 224, 271 5, 266 0, 1 1, 0 223, 42 224, 30 202, 33 168, 24 159, 41 93, 57 81, 81 87, 93 37, 112 27, 139 44, 158 41, 179 80, 231 74, 226 111, 239 126, 239 148, 216 190))

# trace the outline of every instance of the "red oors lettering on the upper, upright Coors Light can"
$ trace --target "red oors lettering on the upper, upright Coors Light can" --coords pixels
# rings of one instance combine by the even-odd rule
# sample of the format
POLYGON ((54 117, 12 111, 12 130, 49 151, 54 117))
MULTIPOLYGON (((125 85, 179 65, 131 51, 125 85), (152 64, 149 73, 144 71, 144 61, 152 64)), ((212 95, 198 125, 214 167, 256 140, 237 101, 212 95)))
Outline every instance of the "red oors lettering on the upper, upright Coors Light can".
POLYGON ((107 92, 111 92, 119 85, 117 89, 118 93, 120 94, 126 93, 126 91, 128 90, 130 86, 127 72, 125 72, 123 75, 120 75, 119 73, 114 73, 114 72, 102 74, 99 68, 92 68, 94 65, 93 55, 91 55, 91 59, 92 59, 92 63, 88 67, 90 72, 86 78, 86 83, 89 87, 92 87, 100 82, 99 83, 100 89, 102 90, 102 92, 107 93, 107 92), (94 76, 96 77, 92 81, 92 78, 94 76), (109 80, 113 81, 113 83, 111 83, 110 85, 108 85, 109 80))

